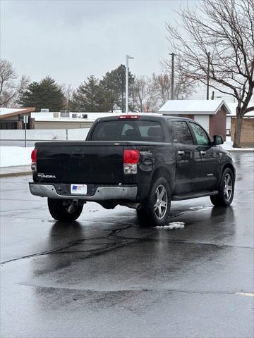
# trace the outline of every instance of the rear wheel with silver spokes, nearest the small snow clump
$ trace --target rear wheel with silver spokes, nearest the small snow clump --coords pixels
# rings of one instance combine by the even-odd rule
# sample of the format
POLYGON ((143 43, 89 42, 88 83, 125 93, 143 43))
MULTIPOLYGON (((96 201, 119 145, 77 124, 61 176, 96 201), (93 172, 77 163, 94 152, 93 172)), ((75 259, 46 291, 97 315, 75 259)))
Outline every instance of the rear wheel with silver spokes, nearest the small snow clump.
POLYGON ((170 206, 169 183, 164 177, 159 177, 153 182, 147 200, 137 211, 140 225, 145 227, 165 225, 169 217, 170 206))

